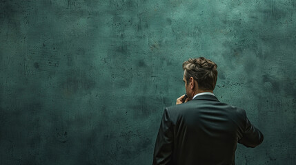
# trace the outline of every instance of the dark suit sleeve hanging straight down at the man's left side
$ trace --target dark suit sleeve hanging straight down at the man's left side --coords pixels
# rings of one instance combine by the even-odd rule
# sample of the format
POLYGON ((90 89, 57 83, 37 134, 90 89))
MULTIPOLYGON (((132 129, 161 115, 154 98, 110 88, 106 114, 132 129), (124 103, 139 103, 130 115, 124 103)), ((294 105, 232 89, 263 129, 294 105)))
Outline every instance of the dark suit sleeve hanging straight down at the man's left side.
POLYGON ((153 165, 170 164, 172 159, 173 149, 173 130, 172 122, 168 109, 164 110, 161 124, 155 142, 155 149, 153 154, 153 165))

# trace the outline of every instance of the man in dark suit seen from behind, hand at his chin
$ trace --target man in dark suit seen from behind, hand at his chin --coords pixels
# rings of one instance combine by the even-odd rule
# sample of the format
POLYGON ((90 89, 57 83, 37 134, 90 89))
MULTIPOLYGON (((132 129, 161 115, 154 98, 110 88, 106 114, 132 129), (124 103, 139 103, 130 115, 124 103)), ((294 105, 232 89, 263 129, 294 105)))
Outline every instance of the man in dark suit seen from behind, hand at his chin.
POLYGON ((183 63, 188 98, 166 107, 162 116, 153 165, 235 164, 237 142, 247 147, 262 143, 262 133, 244 109, 219 102, 213 94, 217 65, 200 57, 183 63))

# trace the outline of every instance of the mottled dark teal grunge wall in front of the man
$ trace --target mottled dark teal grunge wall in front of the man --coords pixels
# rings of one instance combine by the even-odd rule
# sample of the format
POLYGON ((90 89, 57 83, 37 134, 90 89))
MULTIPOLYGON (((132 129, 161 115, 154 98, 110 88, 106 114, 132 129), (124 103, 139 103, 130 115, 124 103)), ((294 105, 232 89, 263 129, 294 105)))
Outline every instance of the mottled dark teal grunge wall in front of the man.
POLYGON ((264 133, 237 164, 296 163, 296 1, 0 0, 0 164, 152 164, 181 63, 264 133))

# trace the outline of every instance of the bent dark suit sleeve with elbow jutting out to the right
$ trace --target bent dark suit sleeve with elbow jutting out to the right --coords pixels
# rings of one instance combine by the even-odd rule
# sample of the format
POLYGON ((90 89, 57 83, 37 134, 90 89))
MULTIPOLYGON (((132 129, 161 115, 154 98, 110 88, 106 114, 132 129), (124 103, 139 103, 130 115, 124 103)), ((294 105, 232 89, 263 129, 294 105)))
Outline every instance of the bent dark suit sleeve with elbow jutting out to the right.
POLYGON ((244 146, 254 148, 262 143, 264 136, 253 124, 250 123, 244 111, 244 132, 241 139, 238 141, 244 146))

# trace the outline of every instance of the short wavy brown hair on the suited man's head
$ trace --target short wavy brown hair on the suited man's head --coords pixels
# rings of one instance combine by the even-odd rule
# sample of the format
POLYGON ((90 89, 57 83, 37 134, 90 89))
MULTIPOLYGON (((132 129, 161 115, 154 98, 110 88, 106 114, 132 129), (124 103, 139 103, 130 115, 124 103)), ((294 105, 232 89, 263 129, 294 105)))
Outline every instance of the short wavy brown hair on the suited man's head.
POLYGON ((188 82, 190 77, 197 80, 199 89, 213 91, 217 82, 217 64, 204 57, 189 58, 182 65, 184 76, 188 82))

